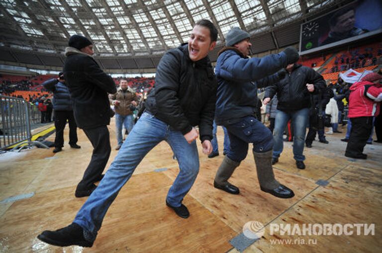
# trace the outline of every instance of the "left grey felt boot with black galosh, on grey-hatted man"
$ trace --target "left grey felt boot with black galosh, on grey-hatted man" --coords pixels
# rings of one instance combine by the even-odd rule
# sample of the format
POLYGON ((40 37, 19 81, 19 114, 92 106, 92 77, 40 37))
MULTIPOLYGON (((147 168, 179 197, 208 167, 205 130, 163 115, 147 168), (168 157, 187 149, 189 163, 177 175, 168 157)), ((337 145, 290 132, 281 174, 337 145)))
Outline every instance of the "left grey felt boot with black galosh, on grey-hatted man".
POLYGON ((236 167, 239 165, 239 162, 232 161, 227 156, 225 156, 223 162, 221 162, 221 165, 216 172, 213 186, 231 194, 239 194, 239 188, 228 182, 228 179, 231 177, 233 171, 235 171, 236 167))

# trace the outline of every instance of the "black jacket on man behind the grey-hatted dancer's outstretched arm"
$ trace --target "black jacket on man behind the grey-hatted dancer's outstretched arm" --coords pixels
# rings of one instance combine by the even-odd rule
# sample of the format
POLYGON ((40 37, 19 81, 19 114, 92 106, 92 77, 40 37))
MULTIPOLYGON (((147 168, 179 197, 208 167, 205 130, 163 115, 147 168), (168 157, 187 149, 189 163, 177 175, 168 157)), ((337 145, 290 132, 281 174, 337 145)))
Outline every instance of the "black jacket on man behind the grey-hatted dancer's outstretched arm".
POLYGON ((310 94, 306 84, 313 84, 313 94, 322 93, 326 87, 323 77, 313 69, 295 64, 290 74, 280 82, 267 87, 264 98, 277 93, 279 99, 277 109, 281 111, 294 111, 310 107, 310 94))

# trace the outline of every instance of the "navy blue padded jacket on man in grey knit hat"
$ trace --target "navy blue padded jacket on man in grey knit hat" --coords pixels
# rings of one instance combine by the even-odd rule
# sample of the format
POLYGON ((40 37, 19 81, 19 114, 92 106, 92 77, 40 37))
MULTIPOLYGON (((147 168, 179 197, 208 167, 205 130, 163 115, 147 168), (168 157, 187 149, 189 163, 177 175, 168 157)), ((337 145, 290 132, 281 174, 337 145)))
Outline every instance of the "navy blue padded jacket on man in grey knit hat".
POLYGON ((272 74, 286 65, 283 52, 263 58, 245 58, 235 47, 223 48, 215 67, 216 124, 230 125, 246 116, 256 117, 257 89, 278 82, 278 75, 272 74))

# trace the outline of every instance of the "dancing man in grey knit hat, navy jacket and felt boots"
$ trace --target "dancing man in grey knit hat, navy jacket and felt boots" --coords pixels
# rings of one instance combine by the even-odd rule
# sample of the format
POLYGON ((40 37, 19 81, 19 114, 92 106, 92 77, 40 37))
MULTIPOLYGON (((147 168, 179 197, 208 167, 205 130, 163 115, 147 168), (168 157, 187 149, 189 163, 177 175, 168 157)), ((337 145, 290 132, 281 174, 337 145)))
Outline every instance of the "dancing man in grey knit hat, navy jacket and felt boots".
POLYGON ((227 128, 231 145, 217 170, 214 187, 239 194, 239 188, 227 180, 246 158, 248 144, 253 143, 252 151, 261 190, 276 197, 291 198, 294 196, 293 191, 279 183, 273 173, 273 137, 256 116, 257 88, 282 78, 285 73, 275 73, 298 60, 297 50, 286 48, 280 54, 248 58, 252 46, 250 35, 238 27, 227 33, 225 45, 219 52, 215 68, 218 80, 215 121, 227 128))

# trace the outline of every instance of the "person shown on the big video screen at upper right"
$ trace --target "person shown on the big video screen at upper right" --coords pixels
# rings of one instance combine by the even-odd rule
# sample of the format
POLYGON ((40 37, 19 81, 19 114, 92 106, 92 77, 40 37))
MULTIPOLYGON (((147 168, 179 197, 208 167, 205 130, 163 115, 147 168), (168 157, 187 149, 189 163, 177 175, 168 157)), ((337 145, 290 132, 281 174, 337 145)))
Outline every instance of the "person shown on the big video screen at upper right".
POLYGON ((339 40, 347 39, 366 32, 367 29, 354 27, 356 11, 353 7, 345 7, 335 12, 329 19, 330 32, 321 45, 330 44, 339 40))

